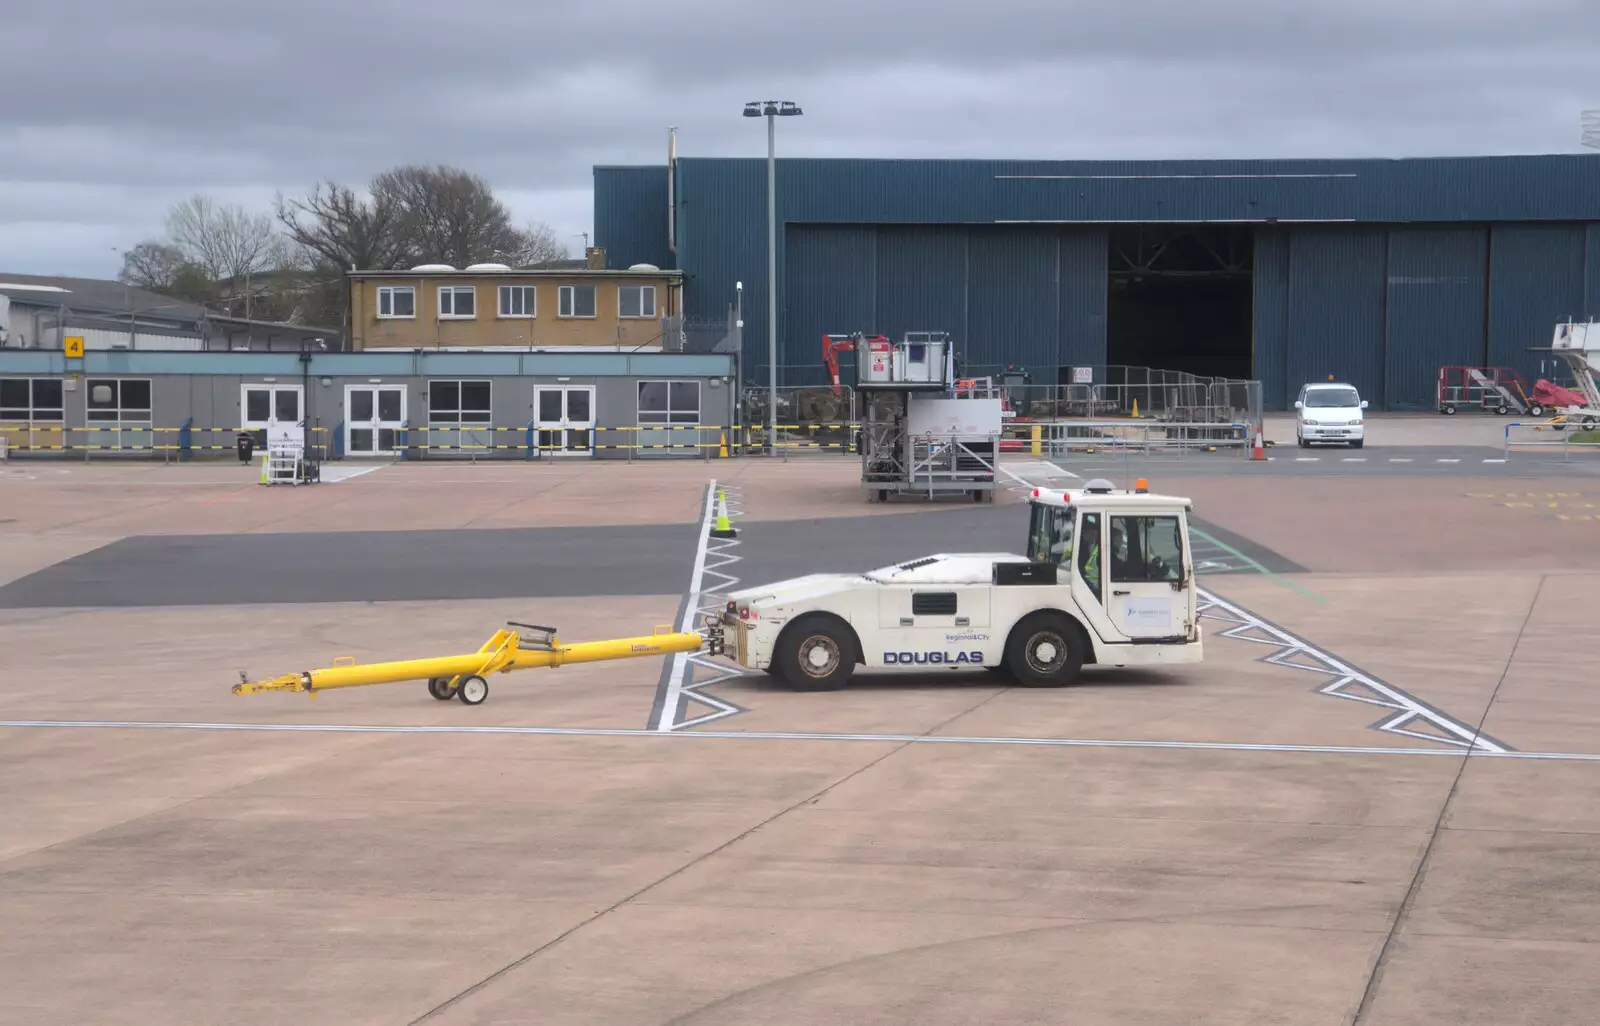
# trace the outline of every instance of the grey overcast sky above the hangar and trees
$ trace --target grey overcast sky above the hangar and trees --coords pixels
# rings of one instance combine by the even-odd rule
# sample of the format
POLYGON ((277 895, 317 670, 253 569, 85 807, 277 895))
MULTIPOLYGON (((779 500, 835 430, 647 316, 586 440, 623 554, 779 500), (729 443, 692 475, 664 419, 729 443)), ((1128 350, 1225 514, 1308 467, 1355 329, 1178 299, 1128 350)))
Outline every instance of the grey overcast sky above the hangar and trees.
MULTIPOLYGON (((50 0, 6 5, 0 269, 112 275, 194 192, 486 176, 576 251, 590 166, 1571 152, 1595 0, 50 0)), ((1600 154, 1597 154, 1600 162, 1600 154)), ((1600 163, 1597 163, 1600 168, 1600 163)))

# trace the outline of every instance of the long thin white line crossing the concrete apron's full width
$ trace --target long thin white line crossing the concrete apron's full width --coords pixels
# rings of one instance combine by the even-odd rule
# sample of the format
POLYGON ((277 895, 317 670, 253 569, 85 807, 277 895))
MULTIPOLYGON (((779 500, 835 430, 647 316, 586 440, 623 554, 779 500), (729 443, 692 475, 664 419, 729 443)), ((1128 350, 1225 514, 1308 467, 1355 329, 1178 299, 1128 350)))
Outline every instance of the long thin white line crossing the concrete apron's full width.
MULTIPOLYGON (((451 727, 376 723, 203 723, 182 720, 0 720, 10 730, 218 730, 240 733, 538 735, 558 738, 704 738, 722 741, 877 741, 880 744, 1014 744, 1035 747, 1141 747, 1192 752, 1290 752, 1307 755, 1446 755, 1600 762, 1595 752, 1504 752, 1459 747, 1363 747, 1352 744, 1254 744, 1245 741, 1139 741, 1122 738, 978 738, 963 735, 822 733, 781 730, 629 730, 606 727, 451 727)), ((1432 738, 1429 738, 1432 739, 1432 738)))

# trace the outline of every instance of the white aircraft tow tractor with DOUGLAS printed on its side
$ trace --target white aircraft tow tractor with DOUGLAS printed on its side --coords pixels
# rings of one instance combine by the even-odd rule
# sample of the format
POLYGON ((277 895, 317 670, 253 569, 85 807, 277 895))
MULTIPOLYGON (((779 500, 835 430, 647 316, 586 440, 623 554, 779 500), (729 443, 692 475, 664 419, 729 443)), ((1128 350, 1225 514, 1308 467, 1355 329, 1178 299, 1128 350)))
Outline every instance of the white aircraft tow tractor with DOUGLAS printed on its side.
POLYGON ((1091 480, 1035 488, 1027 554, 934 554, 733 592, 706 626, 725 655, 805 691, 870 671, 986 669, 1061 687, 1085 664, 1198 663, 1186 498, 1091 480))

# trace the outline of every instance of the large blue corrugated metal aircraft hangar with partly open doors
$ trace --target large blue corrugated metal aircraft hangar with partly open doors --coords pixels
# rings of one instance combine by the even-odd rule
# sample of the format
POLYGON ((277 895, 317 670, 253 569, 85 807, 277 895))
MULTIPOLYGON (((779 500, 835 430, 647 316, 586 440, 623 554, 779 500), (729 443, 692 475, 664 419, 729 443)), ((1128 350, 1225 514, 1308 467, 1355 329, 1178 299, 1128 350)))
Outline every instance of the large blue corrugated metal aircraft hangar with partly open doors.
MULTIPOLYGON (((608 266, 677 267, 683 309, 744 282, 766 381, 766 162, 598 166, 608 266)), ((966 373, 1155 367, 1306 381, 1429 410, 1445 365, 1550 373, 1554 325, 1600 317, 1600 154, 1411 160, 779 160, 779 383, 824 383, 824 333, 949 331, 966 373)))

